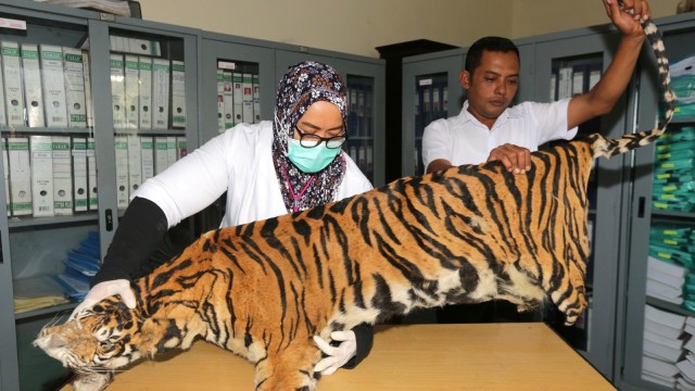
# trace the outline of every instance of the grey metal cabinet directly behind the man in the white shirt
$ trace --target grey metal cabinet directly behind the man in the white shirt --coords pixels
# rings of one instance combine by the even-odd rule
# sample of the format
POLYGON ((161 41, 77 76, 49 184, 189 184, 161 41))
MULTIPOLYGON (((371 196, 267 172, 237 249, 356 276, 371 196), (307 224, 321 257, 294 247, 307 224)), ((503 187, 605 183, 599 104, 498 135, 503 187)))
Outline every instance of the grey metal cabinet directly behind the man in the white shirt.
MULTIPOLYGON (((584 89, 574 92, 585 92, 591 72, 601 75, 608 66, 618 39, 619 34, 606 25, 515 40, 521 58, 520 85, 515 101, 547 102, 557 99, 559 68, 566 68, 565 75, 571 77, 574 74, 582 81, 584 89)), ((458 73, 464 68, 466 52, 467 48, 464 48, 403 60, 403 175, 419 175, 425 169, 420 161, 424 127, 435 116, 459 113, 465 96, 458 73), (432 91, 443 88, 446 88, 446 98, 442 105, 441 99, 432 98, 432 91)), ((571 96, 572 79, 568 81, 571 96)), ((624 134, 627 118, 632 115, 631 99, 631 94, 626 93, 612 113, 583 124, 580 133, 601 131, 610 137, 624 134)), ((621 224, 626 214, 626 162, 622 156, 598 162, 591 184, 593 255, 587 278, 590 308, 571 328, 563 326, 564 319, 559 314, 539 314, 609 379, 614 378, 615 328, 619 318, 616 316, 620 287, 617 281, 620 280, 621 256, 624 256, 621 252, 624 245, 621 224)))

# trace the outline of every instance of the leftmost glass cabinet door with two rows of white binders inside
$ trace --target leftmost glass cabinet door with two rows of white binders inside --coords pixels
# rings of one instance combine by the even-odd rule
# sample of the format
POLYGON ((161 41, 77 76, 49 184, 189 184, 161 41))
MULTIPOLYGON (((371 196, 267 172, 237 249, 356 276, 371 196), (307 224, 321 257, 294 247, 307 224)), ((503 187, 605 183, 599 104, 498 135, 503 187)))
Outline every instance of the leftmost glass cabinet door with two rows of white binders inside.
MULTIPOLYGON (((86 198, 86 140, 94 130, 88 115, 88 24, 5 5, 0 18, 9 26, 0 30, 0 384, 39 389, 67 375, 31 346, 43 324, 74 306, 55 277, 65 275, 68 253, 83 241, 99 248, 99 214, 86 198)), ((98 251, 89 256, 98 265, 98 251)))

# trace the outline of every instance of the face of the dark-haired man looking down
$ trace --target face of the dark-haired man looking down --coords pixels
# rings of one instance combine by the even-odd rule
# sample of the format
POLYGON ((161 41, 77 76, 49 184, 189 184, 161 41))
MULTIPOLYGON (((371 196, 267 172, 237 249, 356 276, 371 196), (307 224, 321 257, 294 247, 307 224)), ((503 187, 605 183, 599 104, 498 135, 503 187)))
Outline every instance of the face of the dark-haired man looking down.
POLYGON ((472 75, 462 71, 459 80, 468 91, 468 111, 492 128, 519 88, 519 59, 515 52, 485 50, 472 75))

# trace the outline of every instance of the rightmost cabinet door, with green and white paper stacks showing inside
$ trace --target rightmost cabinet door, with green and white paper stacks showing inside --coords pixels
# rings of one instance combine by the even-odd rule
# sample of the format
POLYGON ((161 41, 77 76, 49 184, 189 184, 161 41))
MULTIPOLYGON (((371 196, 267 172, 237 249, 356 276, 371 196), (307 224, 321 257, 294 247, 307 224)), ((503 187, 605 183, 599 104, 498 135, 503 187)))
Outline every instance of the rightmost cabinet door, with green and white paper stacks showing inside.
MULTIPOLYGON (((670 60, 677 113, 656 146, 635 153, 621 388, 674 389, 684 381, 679 378, 694 376, 685 358, 691 348, 684 344, 695 331, 694 21, 686 14, 657 21, 670 60), (666 270, 672 278, 664 279, 666 270), (668 332, 666 319, 678 336, 668 332), (680 364, 684 369, 678 362, 685 362, 680 364)), ((662 114, 654 55, 649 50, 643 54, 635 130, 653 128, 662 114)))

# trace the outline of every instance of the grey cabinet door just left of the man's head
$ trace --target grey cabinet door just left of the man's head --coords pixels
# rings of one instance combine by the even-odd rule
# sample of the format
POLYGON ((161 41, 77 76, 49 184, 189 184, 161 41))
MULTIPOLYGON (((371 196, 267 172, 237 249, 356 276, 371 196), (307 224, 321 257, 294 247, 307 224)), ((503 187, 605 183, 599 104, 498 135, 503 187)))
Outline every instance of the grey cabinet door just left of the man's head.
POLYGON ((464 59, 465 52, 459 49, 403 59, 402 176, 425 174, 425 127, 460 112, 466 99, 458 81, 464 59))

